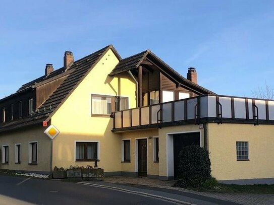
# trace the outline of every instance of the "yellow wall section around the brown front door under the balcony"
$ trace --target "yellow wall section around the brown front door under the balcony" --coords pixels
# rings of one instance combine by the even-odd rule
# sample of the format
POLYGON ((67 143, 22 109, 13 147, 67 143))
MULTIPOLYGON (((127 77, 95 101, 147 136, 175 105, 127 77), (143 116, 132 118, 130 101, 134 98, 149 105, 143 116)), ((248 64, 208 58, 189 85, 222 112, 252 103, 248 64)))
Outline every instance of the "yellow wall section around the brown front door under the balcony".
MULTIPOLYGON (((148 175, 159 175, 159 163, 153 162, 153 136, 158 136, 157 128, 146 130, 134 130, 130 132, 122 132, 122 140, 131 140, 131 162, 122 163, 123 172, 135 172, 136 163, 136 140, 147 139, 147 153, 148 153, 148 175), (148 139, 151 137, 151 139, 148 139)), ((136 170, 138 171, 138 170, 136 170)))

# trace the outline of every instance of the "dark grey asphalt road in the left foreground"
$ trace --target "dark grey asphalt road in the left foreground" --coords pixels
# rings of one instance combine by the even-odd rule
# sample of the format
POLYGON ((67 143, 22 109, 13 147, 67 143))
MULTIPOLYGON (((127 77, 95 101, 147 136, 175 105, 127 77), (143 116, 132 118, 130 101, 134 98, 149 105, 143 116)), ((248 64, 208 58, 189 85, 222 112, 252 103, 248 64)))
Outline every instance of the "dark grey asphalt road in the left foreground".
POLYGON ((169 201, 121 192, 34 178, 0 175, 0 204, 175 204, 169 201))

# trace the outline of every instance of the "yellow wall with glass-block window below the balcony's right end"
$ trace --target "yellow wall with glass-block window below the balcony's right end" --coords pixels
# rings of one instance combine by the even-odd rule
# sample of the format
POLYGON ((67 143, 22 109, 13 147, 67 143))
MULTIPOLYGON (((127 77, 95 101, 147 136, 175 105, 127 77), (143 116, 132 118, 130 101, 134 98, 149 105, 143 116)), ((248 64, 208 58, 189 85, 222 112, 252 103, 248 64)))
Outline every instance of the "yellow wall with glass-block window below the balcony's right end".
POLYGON ((274 177, 274 126, 208 124, 212 175, 217 180, 274 177), (237 161, 236 142, 249 144, 249 161, 237 161))

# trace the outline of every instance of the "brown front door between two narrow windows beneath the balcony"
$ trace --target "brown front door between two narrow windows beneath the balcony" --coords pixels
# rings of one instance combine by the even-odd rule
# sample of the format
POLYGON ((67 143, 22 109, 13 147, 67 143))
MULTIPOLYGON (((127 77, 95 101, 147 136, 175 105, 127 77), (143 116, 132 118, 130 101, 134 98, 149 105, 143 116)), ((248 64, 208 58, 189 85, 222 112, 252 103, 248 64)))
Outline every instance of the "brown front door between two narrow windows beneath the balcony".
POLYGON ((146 139, 138 140, 138 173, 147 176, 147 142, 146 139))

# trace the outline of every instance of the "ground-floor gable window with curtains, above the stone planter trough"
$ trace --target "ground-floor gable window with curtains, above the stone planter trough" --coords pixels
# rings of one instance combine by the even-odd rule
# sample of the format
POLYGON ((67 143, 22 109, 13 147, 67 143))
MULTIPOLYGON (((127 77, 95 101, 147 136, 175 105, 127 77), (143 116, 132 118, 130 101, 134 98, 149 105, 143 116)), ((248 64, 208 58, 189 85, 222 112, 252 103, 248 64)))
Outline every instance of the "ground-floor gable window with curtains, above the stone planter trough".
POLYGON ((98 159, 98 142, 76 142, 75 161, 98 159))

